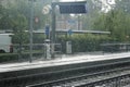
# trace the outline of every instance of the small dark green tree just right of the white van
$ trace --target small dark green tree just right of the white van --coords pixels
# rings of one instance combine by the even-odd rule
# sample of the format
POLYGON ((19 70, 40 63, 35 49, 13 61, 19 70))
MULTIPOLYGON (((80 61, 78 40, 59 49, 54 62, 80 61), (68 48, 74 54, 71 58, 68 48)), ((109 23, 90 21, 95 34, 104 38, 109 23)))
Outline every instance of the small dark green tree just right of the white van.
POLYGON ((15 18, 11 20, 12 27, 13 27, 13 42, 15 44, 25 44, 27 42, 27 33, 25 30, 27 29, 27 20, 24 15, 17 14, 15 15, 15 18))

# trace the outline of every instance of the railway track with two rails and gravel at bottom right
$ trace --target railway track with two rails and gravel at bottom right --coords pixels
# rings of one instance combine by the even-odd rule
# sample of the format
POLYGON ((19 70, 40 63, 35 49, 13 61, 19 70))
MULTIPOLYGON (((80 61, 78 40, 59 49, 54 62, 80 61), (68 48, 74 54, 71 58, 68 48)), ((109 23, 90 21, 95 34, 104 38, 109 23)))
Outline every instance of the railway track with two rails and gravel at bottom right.
POLYGON ((98 72, 93 74, 84 74, 74 77, 67 77, 53 82, 28 85, 26 87, 95 87, 95 86, 103 86, 108 84, 113 85, 113 87, 121 87, 122 85, 123 86, 129 85, 130 84, 129 79, 130 79, 130 67, 128 66, 128 67, 115 69, 110 71, 98 72))

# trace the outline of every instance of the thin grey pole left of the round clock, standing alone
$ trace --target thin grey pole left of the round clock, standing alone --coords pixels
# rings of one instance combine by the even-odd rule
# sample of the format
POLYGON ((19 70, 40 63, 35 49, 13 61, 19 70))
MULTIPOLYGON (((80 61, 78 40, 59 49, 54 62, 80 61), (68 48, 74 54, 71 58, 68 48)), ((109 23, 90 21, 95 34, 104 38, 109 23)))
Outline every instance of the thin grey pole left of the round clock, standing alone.
POLYGON ((29 62, 32 62, 32 22, 34 21, 34 0, 30 0, 30 26, 29 26, 29 62))

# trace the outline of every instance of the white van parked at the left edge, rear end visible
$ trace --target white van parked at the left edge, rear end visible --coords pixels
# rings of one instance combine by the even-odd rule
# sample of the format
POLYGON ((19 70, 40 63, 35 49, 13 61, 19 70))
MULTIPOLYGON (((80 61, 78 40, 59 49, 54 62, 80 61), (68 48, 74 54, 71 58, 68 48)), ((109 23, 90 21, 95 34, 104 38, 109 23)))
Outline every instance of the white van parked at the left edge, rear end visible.
POLYGON ((13 34, 0 34, 0 53, 13 52, 12 35, 13 34))

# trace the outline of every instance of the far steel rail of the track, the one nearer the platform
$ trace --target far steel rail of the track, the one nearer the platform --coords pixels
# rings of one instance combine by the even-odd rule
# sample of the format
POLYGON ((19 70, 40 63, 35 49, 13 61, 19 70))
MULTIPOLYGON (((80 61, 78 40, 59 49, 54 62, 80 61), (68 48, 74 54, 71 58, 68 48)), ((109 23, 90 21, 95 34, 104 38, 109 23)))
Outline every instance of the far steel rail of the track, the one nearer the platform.
POLYGON ((118 67, 118 69, 114 69, 114 70, 108 70, 108 71, 101 71, 98 73, 92 73, 92 74, 83 74, 83 75, 79 75, 79 76, 73 76, 73 77, 67 77, 67 78, 62 78, 62 79, 57 79, 57 80, 51 80, 51 82, 46 82, 46 83, 40 83, 40 84, 34 84, 34 85, 28 85, 26 87, 44 87, 44 86, 55 86, 56 84, 63 84, 63 83, 70 83, 70 82, 76 82, 76 80, 81 80, 84 78, 90 78, 90 77, 94 77, 94 76, 99 76, 99 75, 105 75, 105 74, 113 74, 113 73, 117 73, 117 72, 122 72, 122 71, 128 71, 130 70, 130 66, 127 67, 118 67))

